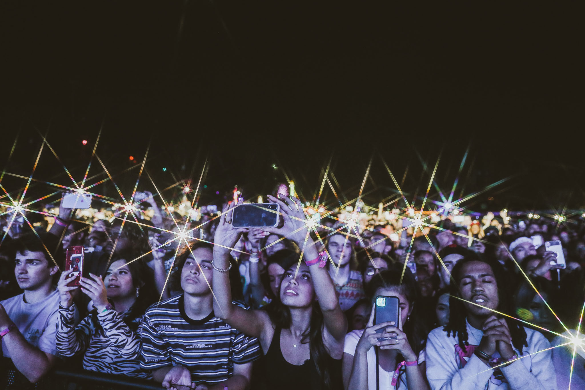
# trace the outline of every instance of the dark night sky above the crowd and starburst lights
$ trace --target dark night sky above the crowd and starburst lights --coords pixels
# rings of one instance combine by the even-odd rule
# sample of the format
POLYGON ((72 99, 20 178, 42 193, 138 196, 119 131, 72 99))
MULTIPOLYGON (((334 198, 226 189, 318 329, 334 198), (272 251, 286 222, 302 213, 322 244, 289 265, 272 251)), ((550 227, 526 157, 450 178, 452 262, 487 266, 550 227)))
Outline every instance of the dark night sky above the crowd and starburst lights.
MULTIPOLYGON (((161 187, 208 158, 222 193, 284 170, 310 198, 331 160, 353 197, 371 158, 374 203, 395 188, 383 161, 421 195, 421 159, 441 155, 445 191, 469 148, 465 194, 512 177, 479 203, 584 206, 583 10, 382 3, 2 2, 2 168, 29 175, 40 132, 79 179, 102 129, 108 169, 150 144, 161 187)), ((68 184, 49 150, 37 172, 68 184)))

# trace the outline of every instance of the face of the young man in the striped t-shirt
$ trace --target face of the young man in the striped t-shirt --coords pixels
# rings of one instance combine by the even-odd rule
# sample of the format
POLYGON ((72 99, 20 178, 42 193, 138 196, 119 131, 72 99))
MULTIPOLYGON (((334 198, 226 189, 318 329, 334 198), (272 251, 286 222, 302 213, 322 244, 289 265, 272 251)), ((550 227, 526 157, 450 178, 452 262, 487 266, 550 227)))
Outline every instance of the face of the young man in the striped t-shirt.
POLYGON ((206 295, 211 292, 211 278, 214 270, 211 260, 214 253, 209 248, 198 248, 189 254, 181 271, 181 288, 185 294, 206 295), (209 285, 208 285, 209 282, 209 285))

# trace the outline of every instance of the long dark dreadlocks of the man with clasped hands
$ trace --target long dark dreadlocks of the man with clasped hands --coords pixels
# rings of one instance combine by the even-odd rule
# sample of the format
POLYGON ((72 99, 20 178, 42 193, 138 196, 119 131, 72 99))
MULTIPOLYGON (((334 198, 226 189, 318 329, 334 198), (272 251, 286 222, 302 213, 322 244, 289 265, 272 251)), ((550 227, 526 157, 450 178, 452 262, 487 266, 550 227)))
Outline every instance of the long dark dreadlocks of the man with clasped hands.
MULTIPOLYGON (((504 268, 498 261, 490 260, 487 258, 478 258, 478 257, 464 257, 461 260, 457 261, 455 267, 453 267, 453 271, 451 272, 451 276, 453 277, 452 284, 450 285, 450 297, 449 297, 449 323, 447 326, 443 328, 447 332, 447 336, 450 336, 453 333, 453 337, 457 337, 459 341, 459 347, 466 352, 466 346, 469 346, 467 339, 469 334, 467 334, 467 311, 465 306, 463 305, 463 301, 457 299, 457 296, 460 296, 459 291, 459 282, 461 281, 461 269, 463 268, 464 264, 470 263, 471 261, 480 261, 481 263, 486 263, 491 267, 491 270, 494 272, 495 283, 498 287, 498 307, 496 310, 498 312, 514 316, 514 300, 512 299, 512 294, 509 291, 508 283, 505 282, 504 277, 504 268)), ((510 335, 512 336, 512 344, 514 347, 522 354, 522 347, 528 347, 526 343, 526 331, 524 327, 520 325, 517 321, 512 320, 510 317, 504 317, 505 322, 508 325, 508 329, 510 329, 510 335)))

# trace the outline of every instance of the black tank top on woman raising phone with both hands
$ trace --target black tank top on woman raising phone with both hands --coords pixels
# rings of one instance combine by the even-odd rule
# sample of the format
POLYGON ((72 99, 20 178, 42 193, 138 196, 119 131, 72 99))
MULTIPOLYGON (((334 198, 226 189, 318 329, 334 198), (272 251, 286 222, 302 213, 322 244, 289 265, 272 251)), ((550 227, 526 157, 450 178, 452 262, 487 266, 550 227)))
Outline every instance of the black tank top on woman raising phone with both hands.
MULTIPOLYGON (((280 350, 280 328, 274 330, 268 352, 263 357, 264 370, 260 374, 264 378, 264 389, 280 390, 322 390, 322 378, 309 358, 301 365, 288 363, 280 350)), ((325 358, 323 370, 328 370, 331 377, 331 390, 342 390, 341 360, 329 356, 325 358)))

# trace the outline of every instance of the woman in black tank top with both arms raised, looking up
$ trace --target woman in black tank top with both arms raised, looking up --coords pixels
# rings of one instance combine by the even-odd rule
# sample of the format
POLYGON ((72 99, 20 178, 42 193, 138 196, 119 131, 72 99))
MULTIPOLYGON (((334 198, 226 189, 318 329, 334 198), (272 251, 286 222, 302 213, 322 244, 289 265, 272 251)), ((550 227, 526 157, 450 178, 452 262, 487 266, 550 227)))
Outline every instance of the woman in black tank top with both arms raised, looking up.
POLYGON ((341 358, 347 322, 335 295, 333 281, 321 267, 323 253, 317 252, 308 234, 301 202, 292 196, 268 196, 280 205, 284 226, 263 228, 296 243, 305 262, 285 271, 280 300, 270 314, 265 310, 244 310, 232 304, 229 278, 229 251, 245 229, 232 225, 232 203, 225 209, 214 239, 214 283, 217 300, 214 311, 230 326, 258 337, 265 354, 263 385, 270 389, 339 389, 341 358))

